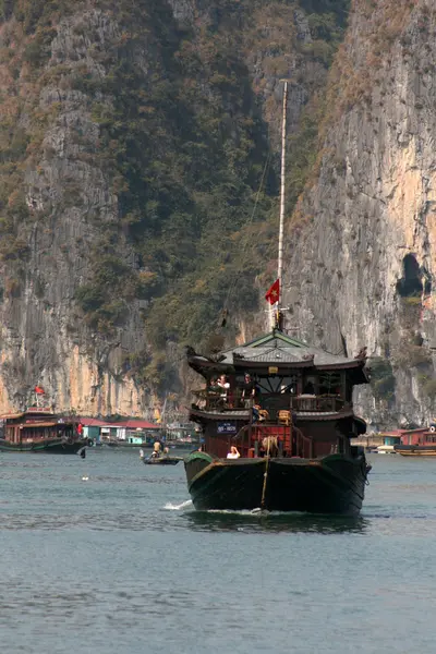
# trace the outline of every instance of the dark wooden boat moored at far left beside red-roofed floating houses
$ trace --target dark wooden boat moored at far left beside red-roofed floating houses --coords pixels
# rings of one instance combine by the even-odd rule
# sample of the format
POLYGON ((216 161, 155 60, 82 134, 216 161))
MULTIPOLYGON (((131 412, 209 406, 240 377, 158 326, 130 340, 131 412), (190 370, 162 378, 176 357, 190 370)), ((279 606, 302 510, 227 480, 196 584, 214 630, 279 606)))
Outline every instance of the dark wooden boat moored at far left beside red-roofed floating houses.
POLYGON ((0 451, 75 455, 87 445, 76 419, 59 417, 50 409, 32 407, 1 421, 0 451))

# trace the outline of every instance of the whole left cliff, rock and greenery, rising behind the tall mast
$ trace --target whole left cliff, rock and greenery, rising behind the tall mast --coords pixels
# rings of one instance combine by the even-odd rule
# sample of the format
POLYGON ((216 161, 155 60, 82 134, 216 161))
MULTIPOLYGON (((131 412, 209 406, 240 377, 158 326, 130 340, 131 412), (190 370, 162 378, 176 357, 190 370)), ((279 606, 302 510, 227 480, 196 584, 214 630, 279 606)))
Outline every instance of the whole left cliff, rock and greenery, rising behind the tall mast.
POLYGON ((59 411, 144 413, 229 296, 256 307, 279 81, 291 211, 347 7, 0 2, 0 411, 37 384, 59 411))

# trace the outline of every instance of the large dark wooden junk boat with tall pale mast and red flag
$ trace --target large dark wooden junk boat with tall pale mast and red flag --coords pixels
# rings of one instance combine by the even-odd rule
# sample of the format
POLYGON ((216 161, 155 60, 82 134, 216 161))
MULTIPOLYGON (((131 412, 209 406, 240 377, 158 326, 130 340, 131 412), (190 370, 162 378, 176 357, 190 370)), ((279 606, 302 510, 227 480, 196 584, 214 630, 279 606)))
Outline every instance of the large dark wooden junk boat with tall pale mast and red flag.
POLYGON ((284 83, 278 279, 266 294, 275 318, 270 332, 214 360, 187 349, 190 366, 207 385, 190 410, 204 445, 184 460, 187 486, 201 510, 356 514, 370 465, 363 448, 352 445, 366 431, 354 415, 352 391, 368 382, 366 350, 355 359, 335 356, 282 328, 287 89, 284 83), (254 398, 241 390, 245 373, 254 398), (221 374, 230 386, 218 391, 210 383, 221 374), (227 458, 231 446, 239 458, 227 458))

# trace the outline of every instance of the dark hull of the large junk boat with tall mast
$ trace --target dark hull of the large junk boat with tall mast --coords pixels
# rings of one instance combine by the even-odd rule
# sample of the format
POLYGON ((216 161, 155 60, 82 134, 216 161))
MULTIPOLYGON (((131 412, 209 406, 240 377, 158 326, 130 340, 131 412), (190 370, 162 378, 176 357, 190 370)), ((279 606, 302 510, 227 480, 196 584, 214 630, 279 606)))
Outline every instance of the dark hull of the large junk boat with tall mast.
POLYGON ((320 459, 214 459, 205 452, 185 458, 187 487, 198 510, 253 510, 359 514, 370 467, 364 455, 320 459))

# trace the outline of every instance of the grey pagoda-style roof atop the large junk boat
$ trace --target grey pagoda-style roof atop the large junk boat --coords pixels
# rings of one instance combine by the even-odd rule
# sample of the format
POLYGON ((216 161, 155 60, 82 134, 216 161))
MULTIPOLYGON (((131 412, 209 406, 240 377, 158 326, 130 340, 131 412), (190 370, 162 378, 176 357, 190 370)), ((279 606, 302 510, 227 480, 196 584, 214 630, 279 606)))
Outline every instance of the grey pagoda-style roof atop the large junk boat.
POLYGON ((268 373, 268 368, 278 368, 279 374, 298 368, 315 368, 317 371, 353 370, 354 384, 367 383, 364 373, 366 362, 365 349, 354 359, 342 354, 331 354, 319 348, 292 338, 278 329, 261 336, 242 346, 223 350, 215 359, 191 352, 190 365, 197 372, 257 372, 268 373))

